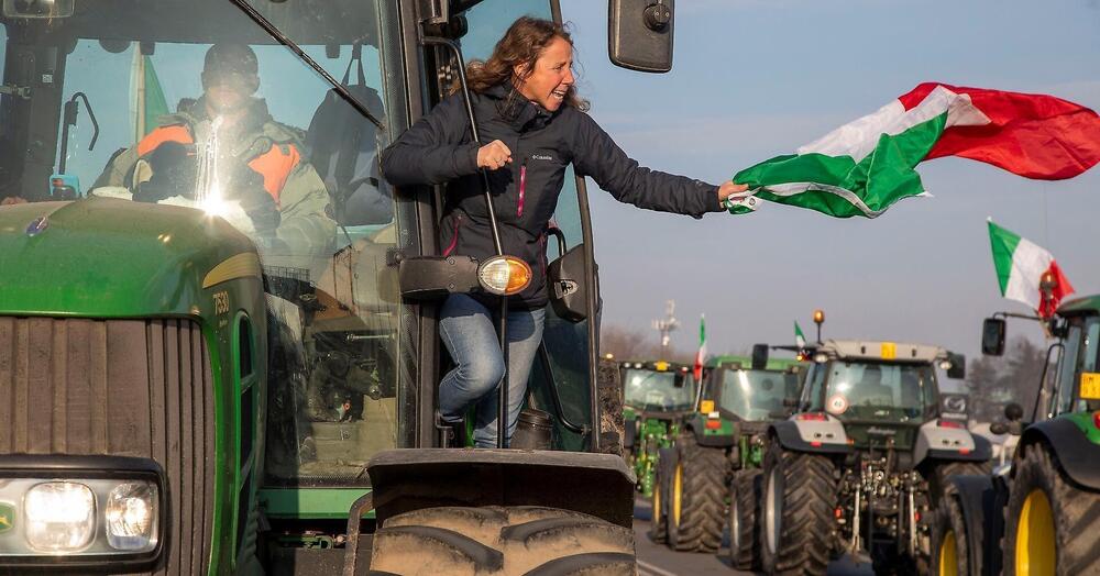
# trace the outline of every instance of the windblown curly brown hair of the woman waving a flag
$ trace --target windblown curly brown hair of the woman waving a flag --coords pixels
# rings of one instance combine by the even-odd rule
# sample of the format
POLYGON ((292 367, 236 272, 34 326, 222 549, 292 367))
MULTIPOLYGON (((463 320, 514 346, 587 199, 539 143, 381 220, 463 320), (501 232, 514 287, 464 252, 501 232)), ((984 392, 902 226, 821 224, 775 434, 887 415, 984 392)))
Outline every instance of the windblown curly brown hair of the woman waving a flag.
MULTIPOLYGON (((493 54, 487 60, 470 60, 466 64, 466 82, 470 85, 470 89, 482 93, 494 86, 512 80, 516 66, 534 65, 542 51, 556 37, 564 40, 570 46, 573 45, 572 37, 561 24, 550 20, 520 16, 508 26, 508 31, 496 43, 493 54)), ((528 70, 530 69, 529 67, 528 70)), ((524 77, 518 78, 518 80, 521 82, 524 77)), ((458 86, 452 91, 457 89, 458 86)), ((515 97, 516 93, 514 90, 509 91, 509 97, 515 97)), ((588 109, 588 102, 576 96, 575 86, 570 86, 569 91, 565 92, 564 104, 581 111, 588 109)))

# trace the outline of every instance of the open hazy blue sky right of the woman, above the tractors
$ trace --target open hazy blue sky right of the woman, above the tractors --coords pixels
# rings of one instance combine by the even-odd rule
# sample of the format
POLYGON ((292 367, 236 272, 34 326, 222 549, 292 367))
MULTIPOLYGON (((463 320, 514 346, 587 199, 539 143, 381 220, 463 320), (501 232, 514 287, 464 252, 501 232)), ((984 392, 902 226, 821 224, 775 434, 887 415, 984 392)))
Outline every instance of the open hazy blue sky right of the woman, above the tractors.
MULTIPOLYGON (((1100 2, 682 0, 673 70, 607 59, 606 2, 561 0, 592 115, 644 165, 713 182, 792 152, 922 81, 1050 93, 1100 110, 1100 2)), ((768 206, 702 221, 635 209, 597 189, 605 322, 645 331, 676 301, 674 343, 710 350, 824 335, 937 343, 974 356, 1000 298, 986 217, 1048 247, 1078 292, 1100 291, 1100 168, 1026 180, 946 158, 920 167, 931 199, 875 220, 768 206)), ((1010 334, 1040 340, 1037 326, 1010 334)))

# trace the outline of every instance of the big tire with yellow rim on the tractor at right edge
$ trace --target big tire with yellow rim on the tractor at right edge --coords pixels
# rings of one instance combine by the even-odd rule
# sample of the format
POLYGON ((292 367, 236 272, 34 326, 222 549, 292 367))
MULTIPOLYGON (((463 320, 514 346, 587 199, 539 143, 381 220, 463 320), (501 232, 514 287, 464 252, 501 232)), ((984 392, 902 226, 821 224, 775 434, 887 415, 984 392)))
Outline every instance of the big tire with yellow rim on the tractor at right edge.
POLYGON ((1100 492, 1074 485, 1043 443, 1024 446, 1012 468, 1004 575, 1100 574, 1100 492))

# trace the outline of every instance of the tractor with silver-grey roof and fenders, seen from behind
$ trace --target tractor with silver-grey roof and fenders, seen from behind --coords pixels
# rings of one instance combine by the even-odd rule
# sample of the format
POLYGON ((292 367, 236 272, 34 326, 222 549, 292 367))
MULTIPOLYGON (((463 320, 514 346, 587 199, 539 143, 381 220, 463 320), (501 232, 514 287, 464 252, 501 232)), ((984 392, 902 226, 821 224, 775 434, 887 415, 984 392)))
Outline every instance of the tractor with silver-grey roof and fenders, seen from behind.
POLYGON ((757 510, 770 574, 825 574, 850 554, 876 574, 927 574, 931 518, 949 478, 980 474, 988 440, 966 428, 937 370, 965 358, 922 344, 828 340, 796 410, 769 427, 757 510))

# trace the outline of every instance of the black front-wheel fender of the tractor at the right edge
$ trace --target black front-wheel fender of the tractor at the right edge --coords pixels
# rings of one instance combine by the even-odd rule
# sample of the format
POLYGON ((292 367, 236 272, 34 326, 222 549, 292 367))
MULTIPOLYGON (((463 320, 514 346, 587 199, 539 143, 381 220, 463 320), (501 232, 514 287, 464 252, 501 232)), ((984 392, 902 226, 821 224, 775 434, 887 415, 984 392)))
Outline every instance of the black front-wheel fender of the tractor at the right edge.
POLYGON ((949 484, 963 512, 967 550, 970 551, 970 574, 1001 574, 1001 536, 1004 535, 1004 506, 1009 490, 1004 480, 994 476, 953 476, 949 484))

